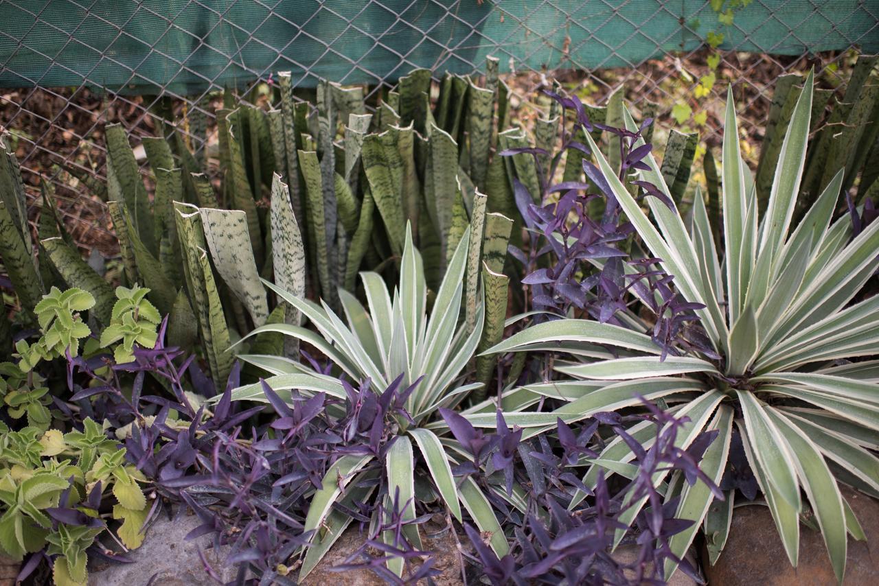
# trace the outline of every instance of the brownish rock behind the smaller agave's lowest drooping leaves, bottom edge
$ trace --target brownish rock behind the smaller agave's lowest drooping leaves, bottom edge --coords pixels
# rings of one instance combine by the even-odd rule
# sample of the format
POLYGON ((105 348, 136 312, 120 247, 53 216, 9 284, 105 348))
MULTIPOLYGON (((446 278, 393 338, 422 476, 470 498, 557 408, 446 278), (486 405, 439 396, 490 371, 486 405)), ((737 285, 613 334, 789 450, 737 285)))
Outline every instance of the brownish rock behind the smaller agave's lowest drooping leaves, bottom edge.
MULTIPOLYGON (((433 568, 439 569, 440 575, 434 576, 437 586, 453 586, 461 584, 461 555, 458 553, 458 537, 454 530, 441 522, 428 521, 421 525, 421 539, 426 551, 434 554, 433 568)), ((323 586, 323 584, 345 584, 345 586, 384 586, 386 583, 374 572, 367 569, 352 569, 345 572, 333 572, 331 568, 345 562, 357 548, 363 545, 365 537, 360 534, 360 527, 352 524, 330 551, 323 557, 301 582, 301 586, 323 586)))

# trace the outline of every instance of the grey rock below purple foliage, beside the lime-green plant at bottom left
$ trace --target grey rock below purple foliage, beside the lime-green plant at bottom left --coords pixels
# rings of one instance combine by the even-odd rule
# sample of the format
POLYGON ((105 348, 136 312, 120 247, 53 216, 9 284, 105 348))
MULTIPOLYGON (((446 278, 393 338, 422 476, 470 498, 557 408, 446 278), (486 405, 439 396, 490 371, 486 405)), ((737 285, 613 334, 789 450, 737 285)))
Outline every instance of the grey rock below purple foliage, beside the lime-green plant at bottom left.
POLYGON ((169 519, 161 515, 147 530, 146 539, 128 557, 134 563, 112 563, 89 571, 90 586, 140 586, 153 580, 154 586, 199 586, 217 582, 204 569, 198 548, 223 582, 235 579, 236 568, 224 565, 225 548, 214 551, 211 535, 186 541, 186 534, 201 525, 199 517, 181 511, 169 519))

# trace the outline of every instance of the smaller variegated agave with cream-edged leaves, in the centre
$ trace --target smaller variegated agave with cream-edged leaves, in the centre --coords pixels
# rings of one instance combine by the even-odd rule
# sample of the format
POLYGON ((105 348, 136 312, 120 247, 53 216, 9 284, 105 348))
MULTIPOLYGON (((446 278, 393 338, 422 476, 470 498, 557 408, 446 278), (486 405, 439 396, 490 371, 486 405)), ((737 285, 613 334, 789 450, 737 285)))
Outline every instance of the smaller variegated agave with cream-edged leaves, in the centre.
MULTIPOLYGON (((454 440, 440 440, 438 433, 433 431, 445 429, 443 424, 436 423, 440 408, 453 408, 471 391, 482 387, 482 383, 464 384, 467 376, 465 367, 476 354, 483 337, 484 314, 483 303, 479 302, 468 307, 468 311, 473 312, 472 319, 461 320, 467 268, 469 264, 478 262, 478 257, 468 254, 471 250, 470 229, 464 231, 447 266, 430 315, 426 312, 427 286, 421 255, 412 242, 411 230, 407 229, 400 283, 393 298, 378 273, 360 273, 367 294, 368 311, 351 293, 339 289, 345 323, 323 300, 317 304, 265 281, 266 286, 278 293, 280 299, 307 317, 320 334, 295 325, 267 324, 255 329, 250 336, 266 331, 294 336, 323 352, 347 375, 348 380, 355 383, 369 380, 371 387, 380 393, 381 389, 389 386, 398 385, 407 389, 407 393, 410 387, 414 387, 404 403, 404 409, 411 419, 398 419, 397 437, 386 456, 389 494, 394 494, 398 488, 399 503, 404 503, 403 518, 415 518, 412 499, 418 459, 413 453, 414 443, 448 510, 461 521, 463 504, 480 530, 495 536, 491 546, 498 556, 503 556, 508 550, 507 542, 489 501, 475 481, 468 478, 460 485, 455 481, 451 467, 459 463, 456 457, 461 458, 461 453, 447 452, 447 443, 454 445, 454 440), (398 384, 396 379, 401 374, 403 379, 398 384), (428 426, 432 420, 432 425, 428 426)), ((501 297, 506 298, 505 287, 501 297)), ((469 302, 467 305, 470 305, 469 302)), ((316 373, 309 366, 289 358, 262 355, 239 355, 238 358, 273 373, 265 383, 282 400, 289 401, 293 389, 306 393, 323 392, 341 400, 347 397, 340 380, 316 373)), ((261 383, 235 389, 232 399, 268 401, 261 383)), ((442 433, 439 432, 439 435, 442 433)), ((373 455, 344 455, 327 470, 323 488, 317 489, 311 497, 304 529, 305 532, 318 528, 326 531, 314 533, 312 546, 305 553, 300 579, 308 575, 352 521, 352 517, 335 510, 333 503, 341 501, 351 492, 345 489, 346 486, 356 487, 370 474, 374 478, 374 471, 364 472, 373 459, 373 455)), ((419 543, 417 530, 415 532, 415 542, 419 543)), ((389 568, 399 574, 403 569, 402 559, 389 561, 389 568)))

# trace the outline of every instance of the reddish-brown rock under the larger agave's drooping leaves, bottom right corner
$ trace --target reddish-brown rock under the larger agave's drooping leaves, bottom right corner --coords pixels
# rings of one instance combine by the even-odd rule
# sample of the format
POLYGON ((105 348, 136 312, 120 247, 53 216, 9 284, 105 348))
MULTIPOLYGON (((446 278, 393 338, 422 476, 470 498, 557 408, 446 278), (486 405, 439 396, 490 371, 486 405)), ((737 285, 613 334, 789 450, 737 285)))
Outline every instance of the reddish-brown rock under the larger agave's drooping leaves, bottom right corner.
MULTIPOLYGON (((879 501, 843 488, 843 496, 861 522, 867 541, 848 539, 844 585, 879 583, 879 501), (870 555, 870 550, 874 554, 870 555)), ((732 516, 730 537, 720 558, 706 573, 709 584, 738 586, 825 586, 836 576, 824 539, 817 531, 800 525, 799 565, 793 568, 781 546, 769 509, 739 507, 732 516)))

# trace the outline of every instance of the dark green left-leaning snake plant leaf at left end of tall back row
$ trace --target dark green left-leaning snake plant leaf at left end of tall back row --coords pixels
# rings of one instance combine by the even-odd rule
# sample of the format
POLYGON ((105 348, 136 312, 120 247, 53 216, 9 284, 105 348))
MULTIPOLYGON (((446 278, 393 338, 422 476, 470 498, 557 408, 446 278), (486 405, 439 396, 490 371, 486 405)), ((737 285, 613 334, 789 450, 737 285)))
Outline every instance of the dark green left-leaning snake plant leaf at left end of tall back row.
POLYGON ((125 128, 118 124, 108 124, 105 128, 105 138, 107 165, 112 168, 114 180, 118 182, 121 201, 125 202, 128 212, 131 213, 134 231, 140 236, 147 250, 154 255, 158 254, 158 242, 153 229, 153 216, 147 190, 143 186, 141 170, 134 159, 134 151, 128 144, 125 128))

